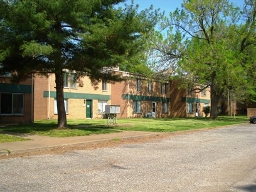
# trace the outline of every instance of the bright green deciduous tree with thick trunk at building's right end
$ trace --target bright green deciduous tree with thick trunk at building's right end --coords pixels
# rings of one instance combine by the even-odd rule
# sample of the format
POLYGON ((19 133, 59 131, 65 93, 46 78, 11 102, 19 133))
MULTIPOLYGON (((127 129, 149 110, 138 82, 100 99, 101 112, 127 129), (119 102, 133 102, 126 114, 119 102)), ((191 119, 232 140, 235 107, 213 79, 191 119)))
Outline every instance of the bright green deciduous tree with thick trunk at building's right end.
POLYGON ((211 88, 212 119, 225 88, 237 87, 246 76, 233 42, 239 11, 228 0, 184 0, 162 24, 166 38, 157 40, 164 46, 154 49, 171 64, 171 75, 179 73, 189 87, 211 88))

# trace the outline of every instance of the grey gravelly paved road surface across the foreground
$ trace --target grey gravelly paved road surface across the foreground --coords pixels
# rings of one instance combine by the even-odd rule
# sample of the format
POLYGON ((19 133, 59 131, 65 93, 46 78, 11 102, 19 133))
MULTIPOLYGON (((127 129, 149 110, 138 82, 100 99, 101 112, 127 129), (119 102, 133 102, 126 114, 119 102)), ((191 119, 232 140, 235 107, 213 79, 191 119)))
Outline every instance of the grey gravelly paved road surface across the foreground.
POLYGON ((256 125, 0 160, 0 191, 256 191, 256 125))

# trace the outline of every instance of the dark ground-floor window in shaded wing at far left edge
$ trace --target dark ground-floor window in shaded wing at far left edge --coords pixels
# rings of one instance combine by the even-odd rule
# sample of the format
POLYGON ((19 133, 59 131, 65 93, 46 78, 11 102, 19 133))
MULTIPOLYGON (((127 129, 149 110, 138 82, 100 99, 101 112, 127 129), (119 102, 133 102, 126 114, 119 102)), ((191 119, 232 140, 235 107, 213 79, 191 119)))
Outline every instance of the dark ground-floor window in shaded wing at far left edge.
POLYGON ((1 114, 24 114, 24 95, 1 93, 1 114))

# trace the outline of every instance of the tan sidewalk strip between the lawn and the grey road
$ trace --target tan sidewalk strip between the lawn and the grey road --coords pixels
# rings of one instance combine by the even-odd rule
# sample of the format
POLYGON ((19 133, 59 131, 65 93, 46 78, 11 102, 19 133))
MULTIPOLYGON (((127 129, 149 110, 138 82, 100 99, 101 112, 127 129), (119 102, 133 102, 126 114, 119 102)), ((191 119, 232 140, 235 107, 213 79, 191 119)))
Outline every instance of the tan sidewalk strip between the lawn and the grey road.
POLYGON ((82 146, 102 141, 112 141, 114 139, 129 139, 148 136, 157 136, 163 132, 141 132, 141 131, 122 131, 110 134, 92 134, 90 136, 76 137, 48 137, 29 134, 21 134, 20 137, 31 139, 28 141, 4 142, 0 143, 0 156, 17 154, 23 152, 40 151, 43 149, 53 149, 60 146, 82 146))

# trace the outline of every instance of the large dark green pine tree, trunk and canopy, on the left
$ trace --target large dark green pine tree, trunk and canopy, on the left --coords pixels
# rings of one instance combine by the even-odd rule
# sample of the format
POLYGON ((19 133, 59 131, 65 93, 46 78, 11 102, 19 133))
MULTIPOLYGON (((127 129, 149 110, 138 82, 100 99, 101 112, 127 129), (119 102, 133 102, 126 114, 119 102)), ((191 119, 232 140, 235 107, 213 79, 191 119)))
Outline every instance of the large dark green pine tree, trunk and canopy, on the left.
POLYGON ((154 28, 157 11, 139 12, 123 0, 3 0, 0 2, 1 71, 14 80, 31 73, 55 73, 58 127, 67 127, 63 70, 87 75, 92 83, 120 81, 105 70, 116 67, 142 72, 144 36, 154 28), (140 58, 140 59, 139 59, 140 58), (132 65, 127 65, 132 63, 132 65))

